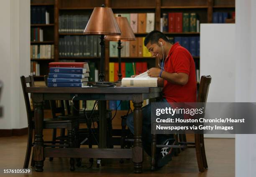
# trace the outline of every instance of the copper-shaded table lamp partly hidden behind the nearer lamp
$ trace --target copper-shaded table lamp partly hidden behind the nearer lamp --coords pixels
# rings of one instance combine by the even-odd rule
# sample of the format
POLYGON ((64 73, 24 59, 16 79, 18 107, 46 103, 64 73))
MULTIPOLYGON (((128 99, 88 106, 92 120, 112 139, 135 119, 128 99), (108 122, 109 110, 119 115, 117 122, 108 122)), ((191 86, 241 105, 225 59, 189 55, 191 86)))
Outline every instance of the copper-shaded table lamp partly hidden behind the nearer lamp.
POLYGON ((118 81, 116 81, 115 83, 121 83, 121 41, 136 40, 136 38, 131 28, 131 25, 126 17, 121 17, 121 15, 118 15, 117 17, 115 17, 115 20, 119 25, 121 35, 106 35, 105 40, 118 41, 118 81))

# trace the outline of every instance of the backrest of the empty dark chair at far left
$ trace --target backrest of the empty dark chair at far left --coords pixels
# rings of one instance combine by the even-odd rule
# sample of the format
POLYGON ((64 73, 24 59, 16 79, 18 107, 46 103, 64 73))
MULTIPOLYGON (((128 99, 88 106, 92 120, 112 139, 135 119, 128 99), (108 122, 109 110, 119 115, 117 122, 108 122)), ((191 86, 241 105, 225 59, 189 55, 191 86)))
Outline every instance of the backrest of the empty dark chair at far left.
POLYGON ((23 96, 24 96, 24 100, 25 100, 25 104, 26 104, 28 127, 29 127, 29 126, 32 126, 32 119, 34 116, 34 111, 31 110, 31 105, 30 105, 28 93, 26 93, 26 88, 27 88, 27 83, 29 83, 29 86, 31 86, 31 87, 35 86, 34 78, 33 78, 33 76, 28 76, 28 77, 21 76, 20 81, 21 81, 23 96))

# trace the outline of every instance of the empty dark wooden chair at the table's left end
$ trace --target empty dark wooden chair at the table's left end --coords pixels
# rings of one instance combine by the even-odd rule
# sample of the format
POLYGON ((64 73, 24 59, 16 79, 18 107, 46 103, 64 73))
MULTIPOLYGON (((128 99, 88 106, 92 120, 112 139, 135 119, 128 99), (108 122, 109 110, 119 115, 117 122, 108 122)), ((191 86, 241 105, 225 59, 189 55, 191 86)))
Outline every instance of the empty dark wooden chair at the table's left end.
MULTIPOLYGON (((33 76, 29 77, 20 77, 21 85, 23 89, 23 96, 25 99, 26 104, 26 111, 27 111, 27 119, 28 119, 28 143, 27 143, 27 150, 26 150, 26 157, 24 161, 23 168, 28 168, 29 159, 31 155, 31 148, 33 147, 33 129, 34 129, 34 111, 31 110, 31 104, 29 101, 28 93, 26 93, 27 83, 29 86, 34 86, 34 79, 33 76)), ((54 139, 52 142, 44 142, 44 147, 75 147, 77 145, 75 139, 75 130, 78 129, 78 120, 77 119, 44 119, 44 129, 67 129, 68 137, 62 138, 65 142, 64 144, 60 144, 57 139, 54 139), (58 145, 59 144, 59 145, 58 145)), ((60 138, 61 139, 61 138, 60 138)), ((33 156, 32 162, 33 165, 33 156)), ((74 159, 70 158, 70 170, 74 171, 74 159)))

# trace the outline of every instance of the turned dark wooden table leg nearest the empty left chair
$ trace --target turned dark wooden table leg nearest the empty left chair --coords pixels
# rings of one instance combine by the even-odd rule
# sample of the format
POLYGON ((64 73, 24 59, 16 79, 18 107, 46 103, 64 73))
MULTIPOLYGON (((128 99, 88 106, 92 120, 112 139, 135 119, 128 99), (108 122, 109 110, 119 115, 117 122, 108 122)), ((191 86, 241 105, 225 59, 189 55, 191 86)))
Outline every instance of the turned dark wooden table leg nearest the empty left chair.
POLYGON ((36 166, 36 172, 42 172, 44 169, 44 139, 43 139, 43 95, 33 94, 33 101, 35 106, 35 145, 33 147, 33 157, 36 166))

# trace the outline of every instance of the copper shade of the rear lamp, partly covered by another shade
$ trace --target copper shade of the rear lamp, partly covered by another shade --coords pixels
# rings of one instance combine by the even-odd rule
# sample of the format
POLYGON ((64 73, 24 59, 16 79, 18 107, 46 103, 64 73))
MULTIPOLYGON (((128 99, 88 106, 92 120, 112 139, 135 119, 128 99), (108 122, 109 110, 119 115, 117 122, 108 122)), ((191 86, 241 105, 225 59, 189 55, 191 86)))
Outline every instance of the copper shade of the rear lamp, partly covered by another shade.
POLYGON ((121 30, 121 35, 106 35, 105 40, 112 40, 112 41, 129 41, 129 40, 136 40, 133 30, 131 28, 130 23, 128 22, 126 17, 115 17, 119 28, 121 30))

